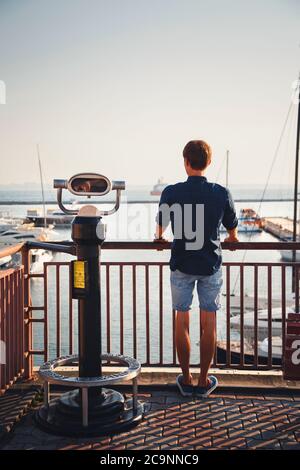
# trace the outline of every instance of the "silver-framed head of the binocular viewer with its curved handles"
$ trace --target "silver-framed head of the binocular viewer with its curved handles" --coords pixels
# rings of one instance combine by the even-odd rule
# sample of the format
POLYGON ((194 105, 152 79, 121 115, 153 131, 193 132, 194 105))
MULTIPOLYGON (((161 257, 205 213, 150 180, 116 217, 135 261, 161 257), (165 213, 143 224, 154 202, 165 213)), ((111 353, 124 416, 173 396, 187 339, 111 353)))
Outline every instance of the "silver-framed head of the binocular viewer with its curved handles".
POLYGON ((125 181, 110 181, 104 175, 98 173, 78 173, 69 180, 55 179, 53 187, 57 189, 57 199, 59 207, 66 214, 77 214, 78 211, 67 209, 62 203, 62 190, 67 189, 75 196, 105 196, 112 190, 117 191, 116 206, 111 211, 104 211, 103 215, 116 212, 120 204, 121 191, 125 189, 125 181))

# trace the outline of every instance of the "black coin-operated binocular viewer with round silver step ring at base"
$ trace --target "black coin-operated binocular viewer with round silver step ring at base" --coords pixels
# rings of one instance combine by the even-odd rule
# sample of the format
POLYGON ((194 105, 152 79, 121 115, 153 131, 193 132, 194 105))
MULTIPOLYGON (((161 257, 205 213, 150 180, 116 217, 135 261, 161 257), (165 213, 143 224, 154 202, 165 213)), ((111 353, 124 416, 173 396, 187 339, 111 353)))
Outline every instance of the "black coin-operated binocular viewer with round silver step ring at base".
MULTIPOLYGON (((60 209, 74 215, 72 222, 73 243, 60 245, 56 251, 76 255, 71 265, 72 297, 78 299, 78 355, 64 356, 48 361, 39 370, 44 382, 44 405, 36 413, 36 421, 44 430, 62 435, 105 435, 121 432, 138 424, 143 417, 143 405, 137 399, 137 377, 140 363, 120 354, 102 353, 101 348, 101 285, 100 251, 105 240, 106 226, 103 216, 115 213, 120 206, 123 181, 110 181, 106 176, 81 173, 69 180, 54 180, 60 209), (63 190, 76 196, 104 196, 116 191, 115 206, 111 210, 99 210, 86 205, 71 210, 63 204, 63 190), (124 366, 122 372, 103 375, 103 362, 124 366), (76 377, 63 376, 57 367, 78 365, 76 377), (109 388, 131 380, 133 398, 109 388), (59 398, 50 399, 50 386, 63 385, 71 390, 59 398)), ((40 245, 47 245, 40 244, 40 245)), ((49 244, 48 244, 49 245, 49 244)), ((41 246, 42 247, 42 246, 41 246)))

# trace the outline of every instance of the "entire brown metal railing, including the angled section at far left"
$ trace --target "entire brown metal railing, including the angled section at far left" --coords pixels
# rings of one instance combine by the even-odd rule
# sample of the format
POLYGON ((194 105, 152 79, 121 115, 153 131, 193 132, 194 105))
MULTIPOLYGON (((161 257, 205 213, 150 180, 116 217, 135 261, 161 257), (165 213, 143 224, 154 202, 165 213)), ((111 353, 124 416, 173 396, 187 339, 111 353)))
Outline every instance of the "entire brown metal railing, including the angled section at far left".
MULTIPOLYGON (((17 318, 19 323, 13 321, 13 330, 8 328, 10 334, 5 337, 7 344, 12 342, 13 345, 8 347, 12 355, 7 356, 7 364, 1 366, 1 388, 15 380, 18 374, 30 377, 34 364, 77 352, 77 302, 71 296, 70 263, 48 262, 42 273, 30 274, 30 249, 38 246, 29 242, 19 247, 22 267, 13 274, 19 276, 19 300, 14 306, 10 304, 11 310, 3 299, 11 295, 8 294, 9 285, 16 281, 9 277, 11 274, 4 275, 7 280, 0 294, 1 315, 3 317, 4 312, 8 318, 9 311, 15 312, 11 318, 17 318), (24 360, 20 361, 21 356, 17 354, 16 367, 18 369, 20 364, 22 367, 16 372, 13 352, 17 348, 24 360)), ((62 246, 48 244, 48 248, 56 251, 62 246)), ((224 250, 237 251, 300 249, 300 243, 288 242, 223 243, 222 246, 224 250)), ((72 253, 68 244, 65 247, 65 251, 72 253)), ((106 242, 103 249, 169 250, 170 244, 106 242)), ((2 252, 0 256, 3 256, 2 252)), ((282 345, 283 351, 287 312, 292 308, 299 311, 299 267, 297 262, 228 261, 223 264, 223 309, 217 315, 218 344, 213 366, 253 370, 281 368, 280 352, 274 353, 273 342, 279 350, 282 345), (293 296, 292 280, 296 286, 293 296), (261 319, 262 309, 265 310, 264 320, 261 319), (277 336, 280 337, 279 346, 277 336), (264 354, 261 352, 262 340, 266 344, 264 354)), ((175 312, 171 307, 168 262, 106 260, 102 263, 101 283, 103 352, 133 355, 148 367, 177 366, 175 312)), ((194 305, 190 331, 193 366, 200 364, 197 312, 198 306, 194 305)))

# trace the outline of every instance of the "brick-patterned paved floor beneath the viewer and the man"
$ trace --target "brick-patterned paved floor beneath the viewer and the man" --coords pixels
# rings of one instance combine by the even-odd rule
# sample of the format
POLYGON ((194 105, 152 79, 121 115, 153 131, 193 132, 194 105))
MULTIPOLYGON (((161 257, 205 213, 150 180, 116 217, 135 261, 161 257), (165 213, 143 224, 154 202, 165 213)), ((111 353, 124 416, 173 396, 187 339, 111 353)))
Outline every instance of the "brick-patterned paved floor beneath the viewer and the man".
POLYGON ((143 388, 145 419, 129 432, 98 438, 47 434, 30 410, 2 449, 300 449, 300 395, 222 391, 205 400, 174 388, 143 388))

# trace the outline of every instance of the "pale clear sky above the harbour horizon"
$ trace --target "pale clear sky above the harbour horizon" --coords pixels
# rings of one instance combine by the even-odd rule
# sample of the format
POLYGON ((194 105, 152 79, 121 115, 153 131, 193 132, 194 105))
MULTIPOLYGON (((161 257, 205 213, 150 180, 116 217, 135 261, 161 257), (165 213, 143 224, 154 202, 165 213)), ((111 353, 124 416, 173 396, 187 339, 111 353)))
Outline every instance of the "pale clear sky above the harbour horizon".
POLYGON ((38 181, 36 143, 49 183, 173 182, 194 138, 212 145, 211 178, 229 148, 230 181, 263 183, 299 44, 299 0, 0 0, 0 184, 38 181))

